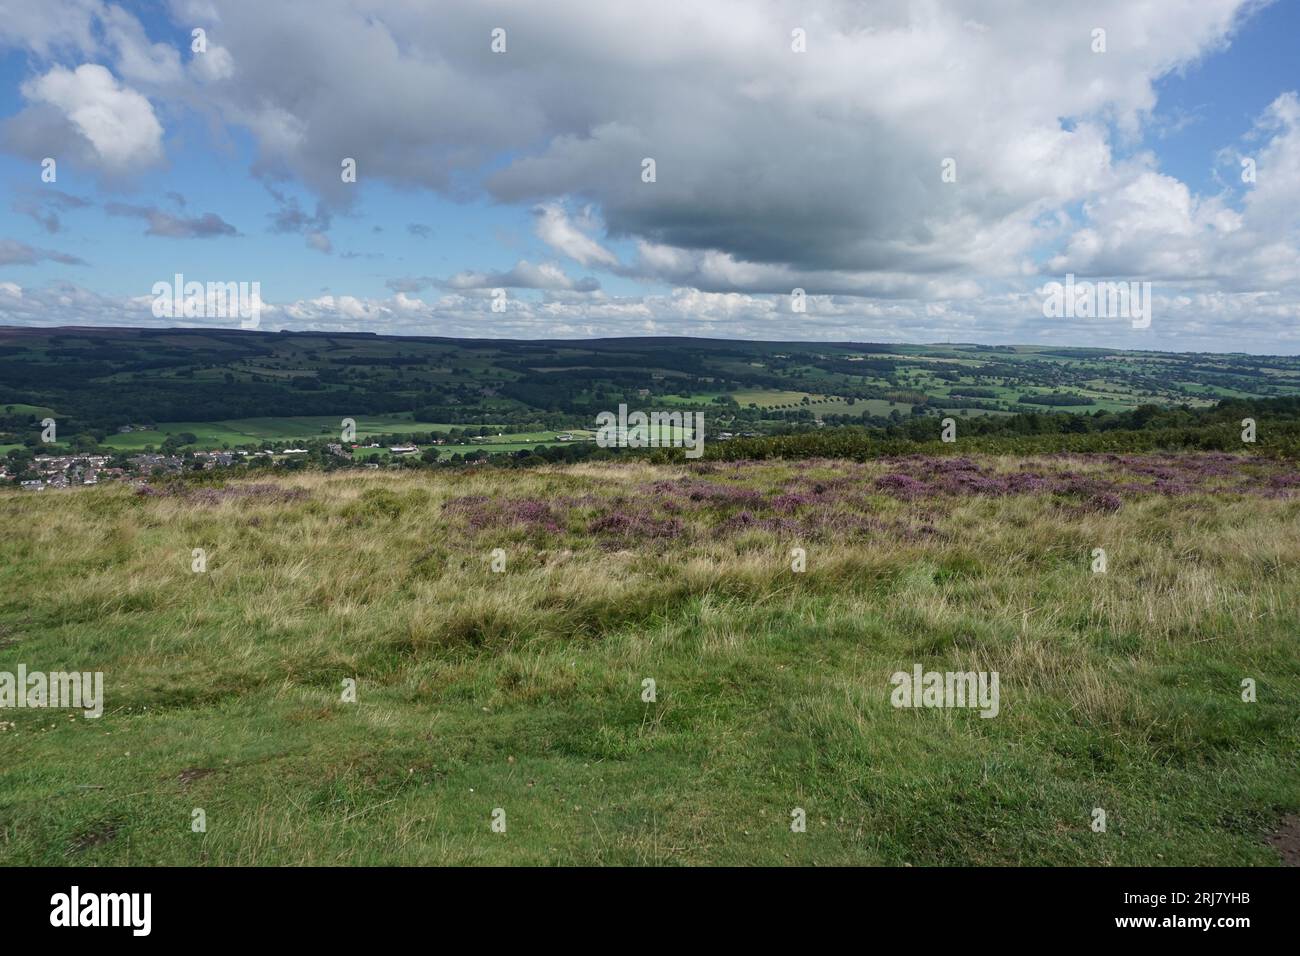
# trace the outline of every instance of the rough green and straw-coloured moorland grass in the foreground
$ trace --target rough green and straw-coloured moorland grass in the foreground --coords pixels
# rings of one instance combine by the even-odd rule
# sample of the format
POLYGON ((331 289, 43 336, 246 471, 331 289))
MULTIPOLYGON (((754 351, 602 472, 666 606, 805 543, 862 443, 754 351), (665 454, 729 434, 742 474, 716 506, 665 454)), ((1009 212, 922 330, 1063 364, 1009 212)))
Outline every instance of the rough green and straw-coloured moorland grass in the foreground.
MULTIPOLYGON (((734 475, 853 470, 870 488, 883 467, 734 475)), ((308 494, 294 502, 0 494, 0 670, 103 670, 108 696, 99 721, 0 711, 0 861, 1277 862, 1262 834, 1300 809, 1295 499, 1104 514, 864 492, 881 522, 940 533, 796 542, 705 509, 680 538, 604 548, 589 511, 571 532, 474 532, 441 509, 636 503, 681 475, 308 473, 283 479, 308 494), (888 678, 915 662, 1000 671, 1001 715, 892 709, 888 678)))

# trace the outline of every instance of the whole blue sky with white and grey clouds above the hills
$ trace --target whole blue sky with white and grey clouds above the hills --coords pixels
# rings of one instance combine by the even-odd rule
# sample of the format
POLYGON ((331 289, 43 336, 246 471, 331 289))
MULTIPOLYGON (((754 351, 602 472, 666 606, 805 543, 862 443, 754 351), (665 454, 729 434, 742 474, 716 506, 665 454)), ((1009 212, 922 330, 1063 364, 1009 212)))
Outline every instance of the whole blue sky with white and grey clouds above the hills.
POLYGON ((1065 7, 0 0, 0 325, 1300 354, 1300 0, 1065 7))

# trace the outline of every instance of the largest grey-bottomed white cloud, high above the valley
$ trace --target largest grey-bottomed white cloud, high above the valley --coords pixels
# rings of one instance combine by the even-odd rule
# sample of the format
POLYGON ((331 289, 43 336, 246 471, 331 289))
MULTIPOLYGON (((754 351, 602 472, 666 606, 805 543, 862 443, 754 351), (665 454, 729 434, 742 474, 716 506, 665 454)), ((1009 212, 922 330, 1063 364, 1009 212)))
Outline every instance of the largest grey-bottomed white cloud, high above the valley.
MULTIPOLYGON (((1053 213, 1091 202, 1104 216, 1106 191, 1176 203, 1117 169, 1113 130, 1134 135, 1156 82, 1225 44, 1252 7, 558 0, 512 7, 510 52, 494 56, 448 40, 488 36, 491 8, 434 23, 396 0, 329 16, 218 1, 239 69, 211 101, 252 130, 259 169, 302 179, 325 208, 355 191, 321 157, 352 156, 363 179, 530 204, 538 238, 585 268, 714 291, 944 294, 1022 277, 1057 241, 1082 259, 1083 230, 1109 225, 1063 237, 1053 213), (620 263, 602 235, 641 255, 620 263)), ((1195 198, 1187 216, 1228 220, 1195 198)))

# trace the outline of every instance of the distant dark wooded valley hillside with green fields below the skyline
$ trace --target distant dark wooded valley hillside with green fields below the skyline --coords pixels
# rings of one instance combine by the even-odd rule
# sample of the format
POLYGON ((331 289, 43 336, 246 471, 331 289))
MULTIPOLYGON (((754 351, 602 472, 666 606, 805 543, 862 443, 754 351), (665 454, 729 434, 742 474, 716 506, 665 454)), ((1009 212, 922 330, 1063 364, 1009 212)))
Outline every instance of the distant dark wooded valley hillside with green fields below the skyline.
MULTIPOLYGON (((1296 397, 1300 359, 1288 356, 0 329, 0 446, 30 450, 46 415, 57 419, 70 450, 88 451, 124 428, 159 423, 400 415, 411 423, 408 440, 432 441, 447 438, 448 425, 464 436, 488 434, 489 425, 582 428, 625 403, 703 410, 708 454, 727 458, 880 454, 936 442, 949 416, 961 445, 1009 450, 1236 447, 1240 420, 1256 418, 1260 450, 1277 451, 1294 446, 1296 397), (718 441, 723 432, 729 441, 718 441)), ((192 429, 173 431, 170 447, 159 450, 195 441, 192 429)), ((512 451, 516 460, 598 454, 577 445, 512 451)))

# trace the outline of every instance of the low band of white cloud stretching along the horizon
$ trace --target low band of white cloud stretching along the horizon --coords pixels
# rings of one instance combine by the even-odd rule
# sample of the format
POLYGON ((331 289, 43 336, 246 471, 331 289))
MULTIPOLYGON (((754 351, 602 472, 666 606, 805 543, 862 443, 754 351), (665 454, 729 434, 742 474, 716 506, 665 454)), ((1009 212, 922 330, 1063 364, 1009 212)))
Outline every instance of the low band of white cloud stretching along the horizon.
MULTIPOLYGON (((69 282, 0 287, 0 325, 138 325, 237 328, 238 320, 153 319, 148 295, 114 298, 69 282), (56 321, 52 321, 56 316, 56 321)), ((703 293, 612 297, 602 291, 511 295, 493 311, 490 290, 446 291, 432 298, 320 295, 264 302, 261 329, 376 332, 381 334, 542 338, 675 334, 766 341, 940 342, 1082 345, 1106 349, 1300 354, 1300 295, 1226 293, 1195 287, 1156 290, 1150 328, 1127 320, 1043 317, 1032 293, 970 299, 872 300, 812 295, 807 312, 789 297, 703 293)))

